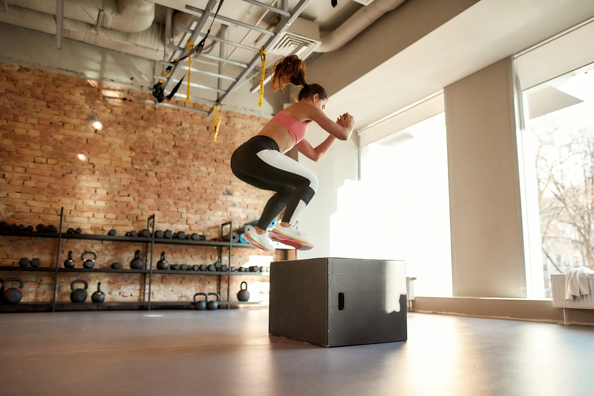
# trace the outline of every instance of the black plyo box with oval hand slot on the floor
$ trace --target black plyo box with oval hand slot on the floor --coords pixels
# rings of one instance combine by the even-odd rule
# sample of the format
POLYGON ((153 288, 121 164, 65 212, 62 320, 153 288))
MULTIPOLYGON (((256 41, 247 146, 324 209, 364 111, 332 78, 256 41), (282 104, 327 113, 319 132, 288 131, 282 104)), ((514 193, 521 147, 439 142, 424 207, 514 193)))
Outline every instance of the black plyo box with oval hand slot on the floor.
POLYGON ((324 347, 406 341, 405 262, 272 263, 268 333, 324 347))

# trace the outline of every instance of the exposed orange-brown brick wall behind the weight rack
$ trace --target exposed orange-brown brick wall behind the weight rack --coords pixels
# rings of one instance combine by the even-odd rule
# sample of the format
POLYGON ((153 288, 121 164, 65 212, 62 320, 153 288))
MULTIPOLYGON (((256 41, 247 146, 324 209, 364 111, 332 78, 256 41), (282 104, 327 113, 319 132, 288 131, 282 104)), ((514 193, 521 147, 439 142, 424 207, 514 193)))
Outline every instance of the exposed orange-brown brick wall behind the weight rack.
MULTIPOLYGON (((114 228, 122 235, 146 228, 147 217, 154 214, 157 229, 198 232, 209 238, 219 235, 222 222, 239 225, 256 219, 270 193, 236 179, 229 160, 233 150, 267 120, 225 112, 215 143, 212 117, 167 107, 155 111, 141 101, 144 98, 150 97, 0 63, 1 219, 57 226, 56 215, 64 207, 64 229, 106 234, 114 228), (87 116, 96 116, 103 128, 95 130, 87 116), (81 161, 79 154, 87 160, 81 161)), ((0 237, 0 265, 11 266, 27 256, 53 266, 56 248, 52 239, 0 237)), ((96 267, 115 261, 127 267, 136 249, 143 250, 144 244, 66 240, 60 261, 72 250, 81 266, 80 254, 93 250, 99 255, 96 267)), ((157 245, 155 256, 161 251, 166 251, 169 263, 211 264, 218 258, 218 249, 212 247, 157 245)), ((263 253, 234 249, 233 265, 247 263, 252 254, 263 253)), ((223 252, 223 263, 225 257, 223 252)), ((274 258, 282 260, 283 253, 274 258)), ((0 277, 15 275, 4 272, 0 277)), ((50 274, 18 275, 26 281, 23 301, 49 301, 50 274)), ((69 283, 85 279, 90 289, 102 282, 110 301, 138 301, 141 277, 63 274, 58 299, 68 301, 69 283)), ((242 280, 265 279, 232 277, 232 299, 242 280)), ((216 282, 216 276, 156 275, 152 298, 185 300, 198 291, 215 291, 216 282)))

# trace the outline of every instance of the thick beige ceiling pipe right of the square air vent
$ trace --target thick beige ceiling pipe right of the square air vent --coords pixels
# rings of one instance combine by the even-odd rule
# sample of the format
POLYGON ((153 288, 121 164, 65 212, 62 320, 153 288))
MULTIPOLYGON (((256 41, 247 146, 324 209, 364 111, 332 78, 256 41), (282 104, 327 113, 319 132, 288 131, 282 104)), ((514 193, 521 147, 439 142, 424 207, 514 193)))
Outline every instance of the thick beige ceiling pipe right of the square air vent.
POLYGON ((331 52, 339 49, 388 11, 392 11, 405 0, 375 0, 366 7, 359 8, 355 14, 336 30, 321 35, 321 44, 315 52, 331 52))

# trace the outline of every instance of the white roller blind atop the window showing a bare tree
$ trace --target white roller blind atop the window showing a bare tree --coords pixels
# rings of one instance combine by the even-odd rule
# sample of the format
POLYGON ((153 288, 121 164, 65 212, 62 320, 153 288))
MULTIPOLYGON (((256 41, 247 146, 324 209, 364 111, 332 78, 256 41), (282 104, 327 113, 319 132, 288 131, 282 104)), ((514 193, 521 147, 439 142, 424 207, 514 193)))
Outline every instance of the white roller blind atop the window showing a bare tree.
POLYGON ((594 21, 516 57, 520 89, 594 62, 594 21))

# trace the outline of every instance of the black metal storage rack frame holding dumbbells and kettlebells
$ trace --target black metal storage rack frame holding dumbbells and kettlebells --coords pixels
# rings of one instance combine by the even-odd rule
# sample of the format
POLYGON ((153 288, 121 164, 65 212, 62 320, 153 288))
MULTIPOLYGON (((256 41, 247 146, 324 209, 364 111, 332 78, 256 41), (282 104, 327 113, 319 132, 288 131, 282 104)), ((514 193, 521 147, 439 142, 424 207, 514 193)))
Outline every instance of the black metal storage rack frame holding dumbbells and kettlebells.
MULTIPOLYGON (((149 216, 147 219, 147 229, 151 231, 151 237, 121 237, 118 235, 93 235, 93 234, 67 234, 62 232, 62 222, 64 219, 64 208, 60 210, 60 224, 58 232, 27 232, 27 231, 12 231, 12 230, 0 230, 0 235, 7 237, 30 237, 30 238, 55 238, 58 239, 58 249, 56 252, 56 262, 53 267, 17 267, 17 266, 1 266, 0 272, 13 271, 13 272, 46 272, 53 273, 53 286, 52 286, 52 299, 50 302, 20 302, 15 305, 0 304, 0 311, 20 311, 22 308, 38 308, 38 309, 51 309, 52 312, 61 308, 72 308, 72 307, 98 307, 98 306, 120 306, 120 307, 141 307, 146 306, 146 309, 150 311, 151 306, 187 306, 192 305, 192 301, 151 301, 151 286, 153 280, 153 274, 184 274, 184 275, 216 275, 219 276, 219 282, 217 285, 217 292, 220 293, 221 279, 223 276, 227 276, 227 301, 219 301, 219 305, 227 306, 230 305, 243 305, 243 304, 258 304, 257 302, 237 302, 229 301, 230 297, 230 285, 232 275, 249 275, 249 276, 263 276, 267 273, 261 272, 231 272, 232 263, 232 250, 233 248, 255 248, 249 244, 233 243, 229 238, 229 242, 219 241, 192 241, 188 239, 165 239, 165 238, 154 238, 154 222, 155 215, 149 216), (139 270, 134 269, 112 269, 112 268, 61 268, 60 267, 60 248, 62 239, 85 239, 88 241, 115 241, 115 242, 144 242, 145 253, 144 253, 144 268, 139 270), (183 270, 157 270, 153 269, 154 263, 154 245, 155 244, 174 244, 174 245, 194 245, 194 246, 208 246, 219 248, 219 261, 223 257, 223 248, 228 248, 229 252, 229 265, 226 272, 224 271, 183 271, 183 270), (73 302, 59 302, 56 301, 56 293, 58 289, 58 277, 60 273, 135 273, 143 274, 143 301, 113 301, 103 303, 73 303, 73 302), (147 280, 149 290, 147 293, 147 280)), ((223 231, 226 226, 229 226, 229 230, 233 230, 233 223, 226 222, 221 225, 220 232, 223 236, 223 231)), ((290 248, 279 248, 285 252, 284 258, 287 260, 288 250, 290 248)))

